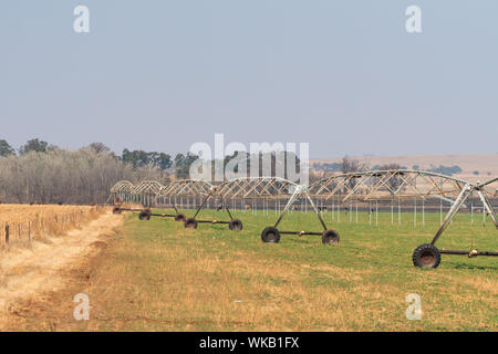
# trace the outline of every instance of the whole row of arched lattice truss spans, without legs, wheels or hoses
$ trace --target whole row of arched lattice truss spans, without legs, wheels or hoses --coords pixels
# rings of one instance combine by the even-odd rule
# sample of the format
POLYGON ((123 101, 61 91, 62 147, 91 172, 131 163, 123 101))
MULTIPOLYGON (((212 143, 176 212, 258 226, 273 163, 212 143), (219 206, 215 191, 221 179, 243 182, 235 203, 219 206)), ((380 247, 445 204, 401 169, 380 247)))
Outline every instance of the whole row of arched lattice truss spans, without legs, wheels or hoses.
MULTIPOLYGON (((480 185, 488 198, 498 198, 498 179, 485 184, 424 170, 369 170, 322 178, 307 189, 314 199, 339 200, 390 200, 394 198, 438 198, 453 202, 466 185, 480 185)), ((216 194, 224 199, 286 198, 294 194, 299 185, 280 177, 242 177, 219 185, 205 180, 181 179, 163 186, 155 180, 145 180, 134 186, 121 180, 111 188, 111 194, 155 195, 156 197, 195 197, 216 194)), ((302 187, 302 186, 301 186, 302 187)))

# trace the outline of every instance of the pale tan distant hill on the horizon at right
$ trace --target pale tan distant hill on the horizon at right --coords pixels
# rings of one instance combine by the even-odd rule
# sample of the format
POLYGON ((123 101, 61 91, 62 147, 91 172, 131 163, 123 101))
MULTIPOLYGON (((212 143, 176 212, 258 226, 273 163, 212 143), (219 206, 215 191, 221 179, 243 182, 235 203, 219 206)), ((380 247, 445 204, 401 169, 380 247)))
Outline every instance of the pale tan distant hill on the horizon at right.
MULTIPOLYGON (((461 171, 454 174, 466 180, 486 180, 498 176, 497 154, 459 154, 459 155, 408 155, 408 156, 350 156, 370 168, 387 164, 400 164, 408 169, 436 169, 443 167, 458 166, 461 171)), ((317 164, 338 164, 338 158, 311 159, 312 168, 317 164)), ((452 169, 449 169, 452 170, 452 169)), ((458 170, 458 169, 457 169, 458 170)))

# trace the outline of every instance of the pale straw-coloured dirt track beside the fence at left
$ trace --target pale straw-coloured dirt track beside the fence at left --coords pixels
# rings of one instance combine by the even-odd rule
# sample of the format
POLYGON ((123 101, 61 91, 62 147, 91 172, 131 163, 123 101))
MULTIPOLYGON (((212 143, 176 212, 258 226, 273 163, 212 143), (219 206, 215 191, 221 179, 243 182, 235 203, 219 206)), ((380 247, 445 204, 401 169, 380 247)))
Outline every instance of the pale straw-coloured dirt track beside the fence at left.
POLYGON ((62 273, 105 247, 105 238, 113 236, 122 223, 122 216, 107 212, 66 236, 0 254, 0 330, 17 302, 63 289, 62 273))

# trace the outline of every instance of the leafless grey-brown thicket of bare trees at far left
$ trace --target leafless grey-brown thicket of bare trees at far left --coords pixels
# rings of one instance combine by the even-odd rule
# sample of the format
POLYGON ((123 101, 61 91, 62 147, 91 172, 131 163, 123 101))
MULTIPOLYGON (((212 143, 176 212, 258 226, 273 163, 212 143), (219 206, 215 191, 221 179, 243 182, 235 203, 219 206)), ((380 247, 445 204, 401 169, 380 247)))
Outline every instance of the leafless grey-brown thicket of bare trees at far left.
POLYGON ((113 154, 93 148, 76 152, 54 149, 0 157, 0 201, 3 202, 104 202, 121 179, 137 183, 168 176, 147 165, 134 169, 113 154))

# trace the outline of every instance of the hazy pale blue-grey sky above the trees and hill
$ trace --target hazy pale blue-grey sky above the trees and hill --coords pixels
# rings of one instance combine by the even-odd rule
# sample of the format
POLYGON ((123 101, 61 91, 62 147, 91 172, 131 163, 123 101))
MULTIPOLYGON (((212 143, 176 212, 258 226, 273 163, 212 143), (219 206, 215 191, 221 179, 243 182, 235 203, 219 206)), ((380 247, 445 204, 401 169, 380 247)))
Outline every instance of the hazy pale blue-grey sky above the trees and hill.
POLYGON ((0 139, 498 153, 497 18, 496 0, 4 0, 0 139))

